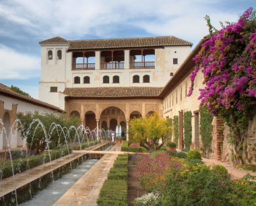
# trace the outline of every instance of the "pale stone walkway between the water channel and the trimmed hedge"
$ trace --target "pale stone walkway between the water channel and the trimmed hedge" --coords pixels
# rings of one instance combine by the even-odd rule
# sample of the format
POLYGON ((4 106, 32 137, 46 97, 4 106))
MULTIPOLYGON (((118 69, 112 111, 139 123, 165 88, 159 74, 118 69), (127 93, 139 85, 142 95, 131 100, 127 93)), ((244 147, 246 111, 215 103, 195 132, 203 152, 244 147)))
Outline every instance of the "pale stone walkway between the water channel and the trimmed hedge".
POLYGON ((118 143, 110 149, 112 152, 105 154, 96 162, 54 205, 97 205, 100 188, 102 188, 120 150, 121 145, 118 143))

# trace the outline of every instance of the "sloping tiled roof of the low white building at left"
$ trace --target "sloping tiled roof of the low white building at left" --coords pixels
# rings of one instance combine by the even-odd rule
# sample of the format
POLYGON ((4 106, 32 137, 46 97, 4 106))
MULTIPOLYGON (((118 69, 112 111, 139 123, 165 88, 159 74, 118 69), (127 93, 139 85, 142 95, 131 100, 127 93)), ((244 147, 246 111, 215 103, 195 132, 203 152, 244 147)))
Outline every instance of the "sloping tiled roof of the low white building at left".
POLYGON ((42 106, 44 108, 50 108, 52 110, 64 112, 63 110, 61 110, 61 108, 59 108, 57 106, 53 106, 52 104, 48 104, 46 102, 42 102, 40 100, 36 100, 34 98, 30 98, 28 96, 24 96, 22 94, 14 92, 13 90, 11 90, 10 88, 8 88, 6 85, 4 85, 2 83, 0 83, 0 94, 5 94, 6 96, 13 97, 13 98, 18 98, 24 102, 28 102, 30 104, 36 104, 36 105, 42 106))

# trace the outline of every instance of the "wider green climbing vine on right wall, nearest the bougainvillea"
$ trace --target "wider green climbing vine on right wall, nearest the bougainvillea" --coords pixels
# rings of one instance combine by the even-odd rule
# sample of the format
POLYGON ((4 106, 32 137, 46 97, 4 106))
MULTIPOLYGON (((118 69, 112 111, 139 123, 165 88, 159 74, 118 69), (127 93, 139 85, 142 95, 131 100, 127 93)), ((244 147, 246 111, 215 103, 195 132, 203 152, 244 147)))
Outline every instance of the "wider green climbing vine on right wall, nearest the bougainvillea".
POLYGON ((201 106, 199 108, 200 114, 200 129, 199 133, 201 135, 201 141, 203 143, 203 156, 207 157, 208 153, 212 151, 212 120, 214 116, 205 108, 201 106))

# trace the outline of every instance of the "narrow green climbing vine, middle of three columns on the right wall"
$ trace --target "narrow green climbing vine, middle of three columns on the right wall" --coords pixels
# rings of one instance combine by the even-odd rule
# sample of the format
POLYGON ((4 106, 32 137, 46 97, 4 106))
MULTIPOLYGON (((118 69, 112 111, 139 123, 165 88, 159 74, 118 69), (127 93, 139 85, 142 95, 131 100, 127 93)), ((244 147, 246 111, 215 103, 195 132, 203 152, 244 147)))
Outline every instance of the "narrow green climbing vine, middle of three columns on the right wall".
POLYGON ((183 114, 183 129, 184 129, 184 145, 185 148, 190 148, 192 143, 192 112, 187 111, 183 114))

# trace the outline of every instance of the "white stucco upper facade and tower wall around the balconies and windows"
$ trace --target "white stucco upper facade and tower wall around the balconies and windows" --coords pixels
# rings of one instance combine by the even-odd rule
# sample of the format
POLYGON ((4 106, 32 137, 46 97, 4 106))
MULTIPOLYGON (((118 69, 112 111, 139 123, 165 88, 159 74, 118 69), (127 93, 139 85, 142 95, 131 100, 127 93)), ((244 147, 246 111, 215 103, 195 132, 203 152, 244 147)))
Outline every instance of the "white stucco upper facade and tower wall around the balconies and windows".
MULTIPOLYGON (((51 87, 57 87, 58 92, 65 88, 86 87, 130 87, 151 86, 163 87, 170 79, 170 73, 177 71, 178 67, 190 53, 191 46, 167 46, 156 48, 155 69, 129 69, 125 61, 125 69, 99 69, 100 51, 96 52, 96 69, 72 71, 72 53, 67 53, 68 44, 43 44, 41 45, 41 79, 39 83, 39 99, 55 106, 61 106, 59 94, 50 92, 51 87), (63 51, 61 61, 57 60, 57 50, 63 51), (48 60, 48 50, 53 50, 53 59, 48 60), (178 59, 178 64, 173 65, 173 59, 178 59), (103 83, 104 75, 108 75, 110 82, 103 83), (119 83, 113 83, 113 76, 119 76, 119 83), (139 83, 133 83, 133 75, 139 75, 139 83), (150 83, 143 83, 143 76, 150 76, 150 83), (90 77, 90 83, 84 83, 84 77, 90 77), (74 77, 80 77, 80 83, 74 83, 74 77)), ((129 59, 129 50, 125 50, 125 59, 129 59)), ((129 59, 130 60, 130 59, 129 59)))

